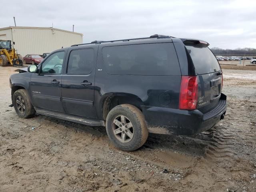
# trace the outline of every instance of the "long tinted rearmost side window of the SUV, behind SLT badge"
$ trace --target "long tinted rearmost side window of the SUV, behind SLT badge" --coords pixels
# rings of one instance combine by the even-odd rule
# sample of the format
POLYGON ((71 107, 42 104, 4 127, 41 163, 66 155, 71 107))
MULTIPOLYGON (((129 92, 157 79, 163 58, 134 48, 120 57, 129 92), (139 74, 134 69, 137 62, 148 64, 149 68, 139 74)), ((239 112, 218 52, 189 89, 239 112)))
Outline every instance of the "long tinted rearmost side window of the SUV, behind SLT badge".
POLYGON ((180 66, 172 43, 110 46, 102 49, 108 74, 179 75, 180 66))

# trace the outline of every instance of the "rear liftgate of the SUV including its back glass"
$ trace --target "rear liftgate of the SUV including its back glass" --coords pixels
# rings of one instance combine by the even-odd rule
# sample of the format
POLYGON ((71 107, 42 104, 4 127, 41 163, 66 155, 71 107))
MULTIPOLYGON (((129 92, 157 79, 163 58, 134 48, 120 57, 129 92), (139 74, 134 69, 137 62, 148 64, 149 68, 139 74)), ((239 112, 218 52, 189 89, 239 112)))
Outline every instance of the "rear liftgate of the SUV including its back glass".
POLYGON ((222 71, 218 60, 204 44, 185 44, 198 75, 197 109, 207 112, 214 108, 222 91, 222 71))

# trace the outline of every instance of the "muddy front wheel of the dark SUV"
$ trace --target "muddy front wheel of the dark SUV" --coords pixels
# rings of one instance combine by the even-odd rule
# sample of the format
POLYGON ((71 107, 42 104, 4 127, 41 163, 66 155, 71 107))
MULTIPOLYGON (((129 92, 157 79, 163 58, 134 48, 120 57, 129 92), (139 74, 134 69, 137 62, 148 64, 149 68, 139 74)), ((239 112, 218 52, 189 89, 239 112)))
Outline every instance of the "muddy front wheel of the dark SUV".
POLYGON ((14 92, 12 102, 19 117, 30 118, 35 115, 36 111, 25 89, 19 89, 14 92))

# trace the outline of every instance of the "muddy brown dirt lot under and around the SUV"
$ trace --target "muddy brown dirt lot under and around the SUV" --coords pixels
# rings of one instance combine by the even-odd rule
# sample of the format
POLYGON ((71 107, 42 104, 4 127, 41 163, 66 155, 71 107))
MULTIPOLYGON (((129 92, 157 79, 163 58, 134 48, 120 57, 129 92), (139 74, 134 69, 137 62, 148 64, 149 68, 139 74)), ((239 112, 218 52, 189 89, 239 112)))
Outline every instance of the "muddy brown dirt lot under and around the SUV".
POLYGON ((103 127, 18 118, 8 107, 14 70, 0 67, 1 192, 256 191, 256 71, 223 70, 228 110, 212 130, 150 134, 128 153, 103 127))

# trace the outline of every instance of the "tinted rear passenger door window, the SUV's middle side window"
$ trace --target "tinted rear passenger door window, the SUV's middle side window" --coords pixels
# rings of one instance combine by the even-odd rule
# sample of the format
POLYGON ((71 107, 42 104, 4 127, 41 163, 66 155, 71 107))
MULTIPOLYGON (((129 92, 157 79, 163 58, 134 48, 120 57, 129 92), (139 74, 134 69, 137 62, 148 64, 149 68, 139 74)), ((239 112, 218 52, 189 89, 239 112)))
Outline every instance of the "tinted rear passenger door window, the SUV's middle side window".
POLYGON ((72 50, 68 59, 68 74, 90 74, 93 68, 93 49, 72 50))

